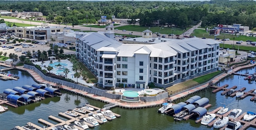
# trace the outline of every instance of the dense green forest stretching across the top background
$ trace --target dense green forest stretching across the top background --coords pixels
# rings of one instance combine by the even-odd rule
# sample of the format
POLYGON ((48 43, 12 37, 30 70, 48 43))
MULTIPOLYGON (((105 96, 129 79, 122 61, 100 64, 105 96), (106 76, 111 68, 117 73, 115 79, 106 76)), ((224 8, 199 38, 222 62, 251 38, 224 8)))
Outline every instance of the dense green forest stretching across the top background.
POLYGON ((141 26, 175 24, 186 28, 202 21, 202 26, 242 24, 256 28, 256 2, 253 0, 210 0, 204 2, 160 1, 0 1, 0 10, 39 11, 49 21, 72 25, 96 23, 100 16, 111 19, 139 18, 141 26))

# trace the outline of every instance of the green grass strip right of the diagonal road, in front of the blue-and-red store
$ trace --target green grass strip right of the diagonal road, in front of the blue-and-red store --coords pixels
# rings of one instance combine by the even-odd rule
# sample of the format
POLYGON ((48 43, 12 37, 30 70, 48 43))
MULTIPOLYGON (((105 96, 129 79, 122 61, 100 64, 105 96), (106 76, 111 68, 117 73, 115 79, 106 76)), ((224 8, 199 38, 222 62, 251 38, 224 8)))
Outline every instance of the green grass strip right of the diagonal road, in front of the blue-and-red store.
MULTIPOLYGON (((214 39, 214 35, 209 35, 209 32, 206 32, 206 30, 201 30, 201 29, 196 29, 194 30, 194 33, 191 35, 195 35, 196 37, 205 37, 205 38, 211 38, 214 39)), ((224 39, 224 34, 220 33, 220 35, 216 36, 216 38, 224 39)), ((256 41, 256 37, 247 37, 245 35, 231 35, 231 34, 225 34, 225 39, 229 38, 230 40, 236 40, 236 41, 246 41, 246 40, 251 40, 251 41, 256 41), (237 37, 238 36, 238 37, 237 37)))

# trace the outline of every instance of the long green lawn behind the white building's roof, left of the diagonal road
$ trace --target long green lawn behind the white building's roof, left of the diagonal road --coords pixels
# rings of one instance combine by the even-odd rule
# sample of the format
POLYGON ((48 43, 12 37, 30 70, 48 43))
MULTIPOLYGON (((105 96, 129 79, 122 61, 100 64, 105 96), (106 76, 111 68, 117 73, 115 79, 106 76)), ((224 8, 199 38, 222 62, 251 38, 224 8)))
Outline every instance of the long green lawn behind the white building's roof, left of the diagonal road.
POLYGON ((176 34, 176 35, 180 35, 183 32, 189 30, 192 27, 187 27, 186 30, 182 30, 180 28, 174 28, 172 30, 171 27, 150 27, 150 29, 148 27, 144 27, 144 26, 138 26, 138 25, 126 25, 126 26, 121 26, 121 27, 117 27, 116 29, 118 30, 128 30, 128 31, 136 31, 136 32, 142 32, 144 30, 150 30, 153 33, 154 32, 159 32, 162 34, 176 34))

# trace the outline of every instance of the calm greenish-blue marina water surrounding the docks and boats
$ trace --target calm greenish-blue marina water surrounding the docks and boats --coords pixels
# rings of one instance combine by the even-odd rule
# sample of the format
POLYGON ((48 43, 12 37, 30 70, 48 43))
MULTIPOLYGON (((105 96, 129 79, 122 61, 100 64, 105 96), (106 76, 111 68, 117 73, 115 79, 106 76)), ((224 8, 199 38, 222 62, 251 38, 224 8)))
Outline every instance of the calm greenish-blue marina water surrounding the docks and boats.
MULTIPOLYGON (((3 67, 0 67, 0 69, 3 67)), ((256 69, 244 69, 241 71, 241 74, 246 73, 255 73, 256 69)), ((12 73, 14 75, 18 75, 20 79, 18 81, 1 81, 0 80, 0 93, 3 93, 4 89, 12 89, 16 86, 22 87, 23 85, 32 85, 35 83, 33 79, 25 72, 11 70, 8 73, 12 73)), ((233 87, 234 85, 239 85, 239 76, 232 75, 227 79, 220 82, 220 86, 228 84, 229 87, 233 87)), ((256 89, 256 83, 248 83, 248 81, 244 80, 244 77, 241 77, 240 80, 240 88, 246 87, 246 92, 251 89, 256 89)), ((214 110, 219 106, 222 106, 220 102, 224 102, 224 97, 220 95, 221 91, 212 94, 212 89, 206 89, 205 91, 200 91, 196 93, 200 97, 207 97, 210 100, 210 104, 212 107, 208 108, 208 110, 214 110)), ((85 97, 80 97, 74 95, 72 93, 67 93, 62 91, 62 96, 54 97, 54 98, 46 98, 46 100, 42 100, 40 102, 28 104, 26 106, 19 106, 18 108, 12 108, 11 106, 6 106, 9 108, 7 112, 0 114, 0 130, 10 130, 14 128, 14 126, 24 126, 27 122, 32 122, 41 126, 43 128, 43 124, 38 122, 39 118, 42 118, 52 124, 57 124, 53 120, 48 119, 48 116, 52 115, 58 117, 62 120, 67 120, 61 116, 58 116, 59 112, 65 112, 68 109, 74 109, 76 106, 83 106, 86 102, 90 102, 90 104, 102 108, 104 103, 98 102, 95 100, 91 100, 85 97)), ((192 97, 194 95, 191 95, 192 97)), ((188 97, 189 98, 189 97, 188 97)), ((180 100, 180 102, 187 100, 188 98, 184 98, 180 100)), ((247 111, 256 112, 256 103, 250 101, 250 96, 244 98, 243 100, 238 100, 235 97, 227 97, 225 102, 226 105, 229 106, 229 110, 232 108, 241 108, 242 113, 247 111)), ((175 103, 175 102, 174 102, 175 103)), ((178 103, 178 102, 176 102, 178 103)), ((157 112, 158 108, 144 108, 137 110, 128 110, 124 108, 112 108, 111 110, 115 113, 121 115, 120 118, 116 118, 112 121, 108 121, 104 124, 100 124, 95 128, 91 128, 94 130, 213 130, 214 128, 209 128, 207 126, 196 124, 195 120, 182 120, 180 122, 174 121, 172 116, 167 116, 165 114, 159 114, 157 112)), ((247 130, 255 130, 255 128, 248 128, 247 130)))

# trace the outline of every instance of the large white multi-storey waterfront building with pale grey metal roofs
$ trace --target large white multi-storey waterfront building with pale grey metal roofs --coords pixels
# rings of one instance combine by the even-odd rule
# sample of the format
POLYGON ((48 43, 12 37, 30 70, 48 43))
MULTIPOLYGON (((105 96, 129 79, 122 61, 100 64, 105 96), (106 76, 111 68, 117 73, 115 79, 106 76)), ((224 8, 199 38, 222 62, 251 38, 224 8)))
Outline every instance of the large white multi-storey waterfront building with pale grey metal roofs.
POLYGON ((142 37, 115 41, 114 27, 106 32, 76 34, 77 57, 98 77, 102 87, 169 87, 218 69, 219 43, 213 39, 142 37))

